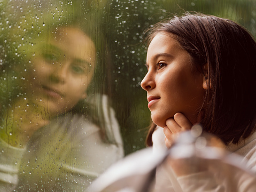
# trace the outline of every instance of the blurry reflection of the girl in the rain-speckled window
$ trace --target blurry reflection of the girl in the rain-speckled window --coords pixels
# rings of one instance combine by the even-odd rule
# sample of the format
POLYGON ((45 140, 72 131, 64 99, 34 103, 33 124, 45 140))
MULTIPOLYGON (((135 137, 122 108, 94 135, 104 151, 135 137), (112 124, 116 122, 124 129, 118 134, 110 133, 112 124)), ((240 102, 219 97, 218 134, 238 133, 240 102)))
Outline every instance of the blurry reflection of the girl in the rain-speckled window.
POLYGON ((28 62, 3 67, 3 76, 18 79, 7 84, 15 87, 9 106, 2 103, 1 191, 84 190, 123 156, 114 111, 92 81, 102 65, 91 33, 56 27, 33 42, 28 62))

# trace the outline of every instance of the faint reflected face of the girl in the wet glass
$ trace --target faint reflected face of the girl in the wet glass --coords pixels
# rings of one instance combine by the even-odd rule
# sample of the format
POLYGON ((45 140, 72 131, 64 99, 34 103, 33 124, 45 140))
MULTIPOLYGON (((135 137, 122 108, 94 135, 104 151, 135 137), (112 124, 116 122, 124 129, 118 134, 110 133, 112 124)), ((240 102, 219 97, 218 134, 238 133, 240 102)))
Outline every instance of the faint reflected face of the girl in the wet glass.
POLYGON ((86 98, 94 74, 96 50, 80 29, 61 28, 33 59, 33 102, 53 115, 64 113, 86 98))

